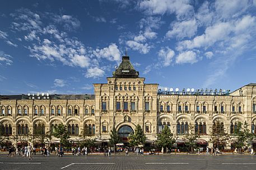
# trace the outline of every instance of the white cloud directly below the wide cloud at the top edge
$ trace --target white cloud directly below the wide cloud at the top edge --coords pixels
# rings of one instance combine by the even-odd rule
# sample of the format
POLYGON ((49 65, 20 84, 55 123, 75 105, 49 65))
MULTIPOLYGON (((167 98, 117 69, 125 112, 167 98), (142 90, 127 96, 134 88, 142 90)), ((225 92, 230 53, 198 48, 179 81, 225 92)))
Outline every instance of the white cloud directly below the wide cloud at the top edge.
POLYGON ((195 19, 189 21, 174 22, 172 28, 172 30, 166 33, 167 38, 190 38, 194 36, 197 32, 197 22, 195 19))

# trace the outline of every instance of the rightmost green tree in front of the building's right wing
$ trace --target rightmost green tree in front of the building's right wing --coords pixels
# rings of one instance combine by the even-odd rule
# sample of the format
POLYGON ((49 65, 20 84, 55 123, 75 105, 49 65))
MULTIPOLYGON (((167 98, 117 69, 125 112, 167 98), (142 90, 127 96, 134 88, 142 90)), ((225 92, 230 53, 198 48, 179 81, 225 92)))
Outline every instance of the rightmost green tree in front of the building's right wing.
POLYGON ((248 123, 241 123, 237 124, 237 127, 234 129, 234 137, 236 137, 235 147, 239 149, 239 153, 241 153, 241 149, 250 143, 253 140, 253 134, 250 133, 248 129, 248 123))

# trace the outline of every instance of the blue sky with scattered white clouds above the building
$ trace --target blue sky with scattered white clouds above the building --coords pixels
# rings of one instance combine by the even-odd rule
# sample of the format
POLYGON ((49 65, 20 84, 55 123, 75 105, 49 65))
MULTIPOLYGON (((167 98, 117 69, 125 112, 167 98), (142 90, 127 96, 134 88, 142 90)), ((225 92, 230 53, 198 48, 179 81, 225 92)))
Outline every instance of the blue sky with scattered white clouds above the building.
POLYGON ((256 1, 2 1, 0 94, 94 93, 127 48, 146 83, 256 82, 256 1))

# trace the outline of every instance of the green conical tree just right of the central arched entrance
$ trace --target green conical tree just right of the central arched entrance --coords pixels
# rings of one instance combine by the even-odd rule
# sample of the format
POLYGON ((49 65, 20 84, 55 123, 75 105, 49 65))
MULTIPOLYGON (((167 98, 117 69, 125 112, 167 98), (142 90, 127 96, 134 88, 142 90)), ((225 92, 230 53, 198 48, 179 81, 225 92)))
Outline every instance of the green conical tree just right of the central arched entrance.
POLYGON ((128 139, 130 145, 137 147, 138 145, 144 145, 147 138, 141 126, 138 124, 134 130, 134 134, 130 135, 128 139))

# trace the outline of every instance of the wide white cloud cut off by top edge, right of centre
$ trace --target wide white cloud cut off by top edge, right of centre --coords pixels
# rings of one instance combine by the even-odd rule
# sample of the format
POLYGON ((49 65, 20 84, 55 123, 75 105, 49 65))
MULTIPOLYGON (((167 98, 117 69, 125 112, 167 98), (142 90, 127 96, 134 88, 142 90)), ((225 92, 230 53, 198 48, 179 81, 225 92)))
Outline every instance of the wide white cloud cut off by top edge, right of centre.
POLYGON ((190 5, 189 0, 141 1, 138 3, 138 8, 151 15, 175 13, 178 18, 188 16, 193 12, 193 6, 190 5))

